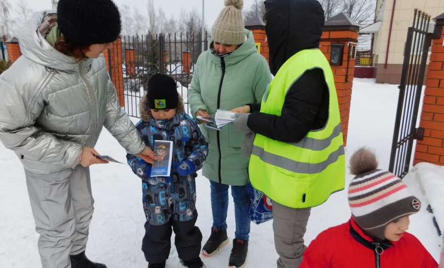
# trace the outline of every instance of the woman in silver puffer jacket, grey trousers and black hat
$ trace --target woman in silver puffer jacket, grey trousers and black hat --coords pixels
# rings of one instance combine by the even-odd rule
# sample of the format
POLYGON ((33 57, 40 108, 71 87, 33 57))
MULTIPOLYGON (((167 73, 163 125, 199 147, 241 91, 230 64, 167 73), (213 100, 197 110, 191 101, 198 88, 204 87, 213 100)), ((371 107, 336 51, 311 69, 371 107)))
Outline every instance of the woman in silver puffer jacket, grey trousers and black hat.
POLYGON ((102 128, 152 163, 121 109, 102 52, 118 38, 111 0, 60 0, 19 37, 22 56, 0 76, 0 141, 19 156, 40 234, 43 268, 106 268, 85 257, 94 200, 88 167, 102 128))

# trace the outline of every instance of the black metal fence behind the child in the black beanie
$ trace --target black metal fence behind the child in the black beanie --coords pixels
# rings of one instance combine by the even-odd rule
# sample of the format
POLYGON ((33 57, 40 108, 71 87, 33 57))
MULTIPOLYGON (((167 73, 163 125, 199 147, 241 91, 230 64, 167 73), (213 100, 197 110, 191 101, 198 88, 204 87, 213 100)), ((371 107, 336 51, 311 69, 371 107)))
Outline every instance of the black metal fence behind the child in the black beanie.
POLYGON ((186 112, 188 87, 193 77, 197 58, 208 48, 208 34, 158 34, 122 37, 125 110, 128 115, 140 117, 139 102, 146 92, 148 79, 166 74, 177 81, 177 90, 183 97, 186 112))

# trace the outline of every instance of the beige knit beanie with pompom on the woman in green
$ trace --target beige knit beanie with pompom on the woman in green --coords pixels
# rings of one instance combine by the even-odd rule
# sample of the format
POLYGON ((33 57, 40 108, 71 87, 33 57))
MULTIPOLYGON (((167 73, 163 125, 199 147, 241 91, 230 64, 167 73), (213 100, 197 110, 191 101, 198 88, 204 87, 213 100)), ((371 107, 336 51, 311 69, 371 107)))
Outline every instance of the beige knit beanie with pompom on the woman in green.
POLYGON ((225 7, 211 29, 214 42, 227 45, 239 45, 244 42, 243 5, 243 0, 225 0, 225 7))

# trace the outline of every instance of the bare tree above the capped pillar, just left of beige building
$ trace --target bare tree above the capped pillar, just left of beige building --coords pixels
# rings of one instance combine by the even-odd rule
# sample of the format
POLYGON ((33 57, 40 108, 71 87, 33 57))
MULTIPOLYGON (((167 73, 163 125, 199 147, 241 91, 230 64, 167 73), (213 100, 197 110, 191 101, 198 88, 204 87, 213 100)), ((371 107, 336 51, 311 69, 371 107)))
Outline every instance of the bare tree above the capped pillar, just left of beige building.
POLYGON ((360 23, 375 16, 375 0, 344 0, 343 13, 360 23))

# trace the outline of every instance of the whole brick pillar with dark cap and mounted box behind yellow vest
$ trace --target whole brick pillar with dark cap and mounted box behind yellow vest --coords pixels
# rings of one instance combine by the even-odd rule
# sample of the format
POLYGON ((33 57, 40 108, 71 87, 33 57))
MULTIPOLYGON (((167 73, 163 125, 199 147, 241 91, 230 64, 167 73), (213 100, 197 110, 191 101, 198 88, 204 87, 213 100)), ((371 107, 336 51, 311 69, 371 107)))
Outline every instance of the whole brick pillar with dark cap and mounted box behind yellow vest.
POLYGON ((347 145, 348 119, 355 73, 355 57, 350 52, 358 43, 358 31, 359 25, 340 13, 325 22, 319 44, 319 49, 330 62, 335 76, 344 145, 347 145), (332 58, 332 50, 334 58, 332 58), (340 55, 338 51, 341 52, 340 55))

